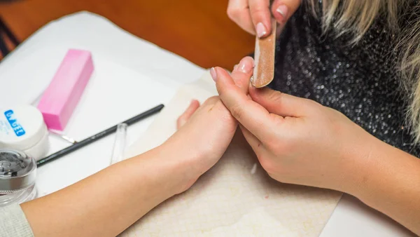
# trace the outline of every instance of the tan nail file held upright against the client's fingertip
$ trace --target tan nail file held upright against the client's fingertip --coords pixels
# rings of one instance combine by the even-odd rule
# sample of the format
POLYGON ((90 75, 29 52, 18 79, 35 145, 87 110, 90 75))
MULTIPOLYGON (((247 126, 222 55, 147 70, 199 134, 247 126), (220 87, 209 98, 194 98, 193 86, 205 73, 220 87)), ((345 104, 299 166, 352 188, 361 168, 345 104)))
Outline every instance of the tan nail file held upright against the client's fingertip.
POLYGON ((274 57, 276 54, 277 22, 272 19, 271 34, 255 40, 255 67, 251 83, 256 88, 267 86, 274 79, 274 57))

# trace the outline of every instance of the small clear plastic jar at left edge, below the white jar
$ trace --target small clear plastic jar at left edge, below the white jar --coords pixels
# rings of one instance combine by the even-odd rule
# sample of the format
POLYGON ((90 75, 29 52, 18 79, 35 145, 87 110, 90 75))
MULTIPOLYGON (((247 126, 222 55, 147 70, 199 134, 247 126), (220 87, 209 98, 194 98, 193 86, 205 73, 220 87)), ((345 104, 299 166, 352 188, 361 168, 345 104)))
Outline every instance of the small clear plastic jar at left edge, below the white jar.
POLYGON ((22 151, 0 149, 0 207, 36 198, 36 161, 22 151))

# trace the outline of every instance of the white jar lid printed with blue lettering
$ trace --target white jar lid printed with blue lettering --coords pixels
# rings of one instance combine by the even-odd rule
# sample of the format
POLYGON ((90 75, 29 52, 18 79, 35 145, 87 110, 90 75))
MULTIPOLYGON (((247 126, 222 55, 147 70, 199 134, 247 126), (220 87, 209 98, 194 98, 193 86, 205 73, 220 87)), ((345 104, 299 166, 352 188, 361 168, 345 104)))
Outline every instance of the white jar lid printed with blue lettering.
POLYGON ((0 149, 25 151, 47 131, 41 111, 30 105, 0 109, 0 149))

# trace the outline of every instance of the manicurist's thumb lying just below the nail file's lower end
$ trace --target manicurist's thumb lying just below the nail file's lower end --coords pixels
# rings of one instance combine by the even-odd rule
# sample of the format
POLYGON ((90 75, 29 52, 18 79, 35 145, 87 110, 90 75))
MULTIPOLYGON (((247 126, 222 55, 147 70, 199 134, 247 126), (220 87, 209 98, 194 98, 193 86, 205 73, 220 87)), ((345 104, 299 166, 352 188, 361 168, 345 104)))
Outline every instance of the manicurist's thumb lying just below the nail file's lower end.
POLYGON ((255 88, 250 86, 249 95, 252 100, 267 109, 269 113, 286 117, 303 117, 314 111, 316 102, 293 95, 281 93, 270 88, 255 88))

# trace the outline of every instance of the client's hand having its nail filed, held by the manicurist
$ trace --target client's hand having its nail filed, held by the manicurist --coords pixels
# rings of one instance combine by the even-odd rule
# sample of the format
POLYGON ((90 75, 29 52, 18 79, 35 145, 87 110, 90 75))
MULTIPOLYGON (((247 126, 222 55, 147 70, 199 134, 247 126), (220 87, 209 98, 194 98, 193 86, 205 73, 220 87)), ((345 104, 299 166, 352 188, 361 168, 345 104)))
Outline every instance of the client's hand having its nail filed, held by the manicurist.
MULTIPOLYGON (((237 79, 237 87, 244 91, 253 71, 249 62, 253 63, 251 57, 244 58, 232 72, 237 79)), ((237 130, 237 121, 219 97, 210 97, 201 106, 193 100, 179 117, 177 125, 178 132, 163 145, 167 151, 174 152, 187 168, 184 178, 188 182, 181 190, 185 191, 223 156, 237 130)))

